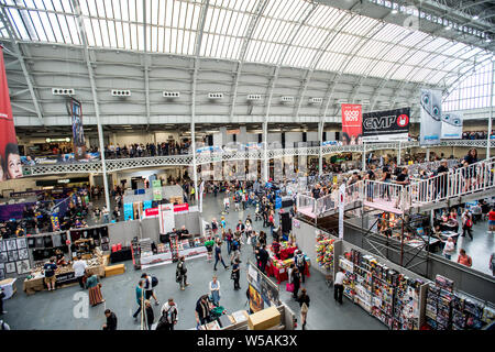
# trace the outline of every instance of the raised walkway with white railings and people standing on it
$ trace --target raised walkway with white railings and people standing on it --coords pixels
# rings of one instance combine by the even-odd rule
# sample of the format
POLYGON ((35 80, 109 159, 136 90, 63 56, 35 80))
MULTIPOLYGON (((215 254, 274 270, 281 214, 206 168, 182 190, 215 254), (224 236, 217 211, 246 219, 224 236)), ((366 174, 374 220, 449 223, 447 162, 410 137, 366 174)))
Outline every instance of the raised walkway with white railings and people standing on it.
MULTIPOLYGON (((495 157, 409 185, 361 180, 345 188, 344 209, 361 205, 402 215, 451 207, 495 195, 495 157)), ((297 211, 324 218, 339 210, 339 190, 315 199, 297 195, 297 211)))

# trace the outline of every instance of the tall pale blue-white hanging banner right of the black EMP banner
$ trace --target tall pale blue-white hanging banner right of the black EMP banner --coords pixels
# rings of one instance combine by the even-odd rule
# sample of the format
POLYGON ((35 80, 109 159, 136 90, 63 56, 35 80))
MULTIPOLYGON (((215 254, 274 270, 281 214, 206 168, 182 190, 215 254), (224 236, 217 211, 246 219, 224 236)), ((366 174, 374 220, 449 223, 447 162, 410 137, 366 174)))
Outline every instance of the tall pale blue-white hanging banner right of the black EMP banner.
POLYGON ((439 90, 421 89, 419 144, 440 142, 442 132, 442 94, 439 90))

